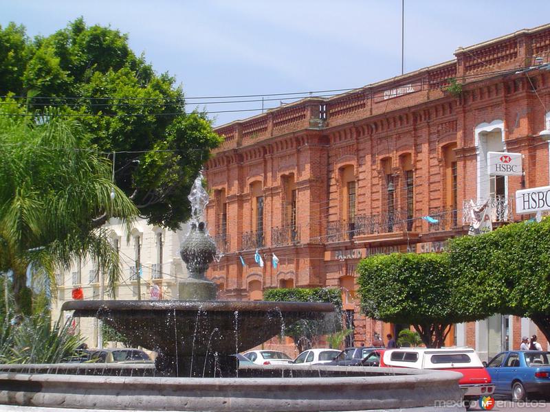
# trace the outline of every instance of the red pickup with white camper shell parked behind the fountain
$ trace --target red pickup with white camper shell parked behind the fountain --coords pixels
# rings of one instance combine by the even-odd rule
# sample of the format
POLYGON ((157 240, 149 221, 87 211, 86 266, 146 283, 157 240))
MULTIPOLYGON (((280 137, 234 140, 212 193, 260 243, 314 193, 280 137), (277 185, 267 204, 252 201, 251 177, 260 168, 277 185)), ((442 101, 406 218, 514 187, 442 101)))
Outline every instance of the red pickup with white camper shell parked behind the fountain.
POLYGON ((464 391, 465 400, 477 400, 481 396, 494 393, 491 376, 476 352, 469 347, 386 349, 380 358, 380 366, 460 372, 463 377, 459 380, 459 385, 464 391))

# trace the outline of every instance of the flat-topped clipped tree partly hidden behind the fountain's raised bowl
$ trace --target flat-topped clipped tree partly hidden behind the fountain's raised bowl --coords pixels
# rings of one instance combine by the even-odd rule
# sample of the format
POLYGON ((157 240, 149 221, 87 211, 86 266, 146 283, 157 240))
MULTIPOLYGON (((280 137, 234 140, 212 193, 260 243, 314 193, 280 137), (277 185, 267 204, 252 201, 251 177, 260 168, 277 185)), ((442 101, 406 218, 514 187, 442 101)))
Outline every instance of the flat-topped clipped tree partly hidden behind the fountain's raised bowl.
POLYGON ((266 301, 327 302, 334 305, 336 312, 325 315, 322 320, 301 320, 285 325, 283 334, 292 337, 298 352, 311 347, 319 336, 342 330, 342 295, 336 288, 289 288, 265 290, 266 301))

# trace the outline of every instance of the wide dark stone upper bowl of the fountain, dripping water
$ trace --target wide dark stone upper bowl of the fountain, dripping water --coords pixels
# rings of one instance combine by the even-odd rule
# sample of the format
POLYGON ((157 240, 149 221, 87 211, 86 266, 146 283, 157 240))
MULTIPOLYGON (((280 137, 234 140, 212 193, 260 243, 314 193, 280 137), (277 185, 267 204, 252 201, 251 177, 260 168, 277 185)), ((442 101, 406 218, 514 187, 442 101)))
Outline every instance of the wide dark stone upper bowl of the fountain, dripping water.
POLYGON ((173 356, 234 354, 281 334, 283 325, 321 319, 332 304, 272 301, 67 301, 74 317, 97 317, 133 347, 173 356))

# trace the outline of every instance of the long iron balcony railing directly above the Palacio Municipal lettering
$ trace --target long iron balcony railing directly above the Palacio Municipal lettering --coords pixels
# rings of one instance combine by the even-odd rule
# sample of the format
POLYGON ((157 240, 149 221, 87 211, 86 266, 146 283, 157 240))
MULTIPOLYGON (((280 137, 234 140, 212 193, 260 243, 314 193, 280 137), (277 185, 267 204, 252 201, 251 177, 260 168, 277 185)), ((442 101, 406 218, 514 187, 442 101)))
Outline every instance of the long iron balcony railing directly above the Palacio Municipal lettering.
POLYGON ((353 222, 342 220, 327 223, 327 242, 342 242, 355 236, 373 235, 412 230, 413 219, 408 219, 406 211, 375 215, 356 215, 353 222))

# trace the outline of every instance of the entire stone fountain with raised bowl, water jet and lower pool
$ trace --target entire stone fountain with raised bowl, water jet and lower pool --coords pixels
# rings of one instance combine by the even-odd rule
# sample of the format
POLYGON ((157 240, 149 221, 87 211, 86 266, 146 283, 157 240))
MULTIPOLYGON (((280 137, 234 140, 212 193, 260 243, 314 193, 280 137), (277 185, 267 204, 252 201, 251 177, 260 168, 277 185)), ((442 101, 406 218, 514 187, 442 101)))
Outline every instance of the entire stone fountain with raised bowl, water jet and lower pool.
POLYGON ((334 308, 321 303, 215 300, 217 288, 205 278, 216 248, 201 219, 208 203, 201 176, 189 198, 191 231, 180 254, 190 276, 179 286, 182 300, 63 304, 74 317, 102 319, 131 346, 155 350, 155 365, 0 365, 0 411, 3 404, 41 411, 464 410, 460 374, 450 371, 238 367, 232 354, 276 336, 282 325, 319 319, 334 308))

